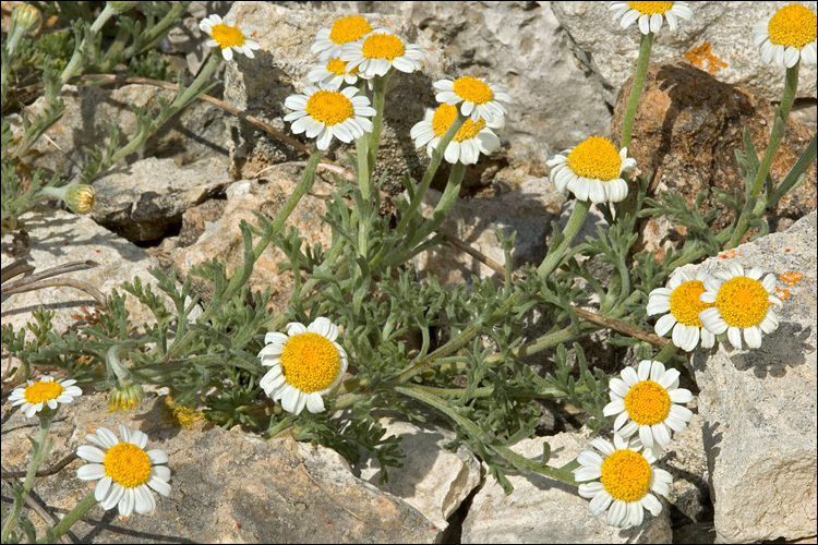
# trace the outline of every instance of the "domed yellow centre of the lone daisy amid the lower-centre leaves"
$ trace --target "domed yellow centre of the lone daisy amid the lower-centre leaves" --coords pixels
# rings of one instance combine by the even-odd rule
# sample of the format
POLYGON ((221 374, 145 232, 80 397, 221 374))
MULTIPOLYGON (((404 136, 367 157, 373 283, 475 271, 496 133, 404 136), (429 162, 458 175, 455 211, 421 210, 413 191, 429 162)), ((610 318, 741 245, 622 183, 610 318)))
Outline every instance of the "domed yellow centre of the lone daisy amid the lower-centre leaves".
POLYGON ((340 370, 340 356, 333 341, 311 332, 290 337, 278 363, 287 383, 306 393, 328 387, 340 370))

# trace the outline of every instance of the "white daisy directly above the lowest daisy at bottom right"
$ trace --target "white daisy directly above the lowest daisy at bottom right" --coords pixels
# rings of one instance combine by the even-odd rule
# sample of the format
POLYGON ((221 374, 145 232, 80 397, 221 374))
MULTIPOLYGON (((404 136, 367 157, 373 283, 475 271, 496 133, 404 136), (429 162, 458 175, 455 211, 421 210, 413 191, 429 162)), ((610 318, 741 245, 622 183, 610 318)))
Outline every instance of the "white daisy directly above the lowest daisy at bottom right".
POLYGON ((683 432, 693 417, 689 409, 676 404, 693 399, 690 390, 678 387, 678 374, 665 371, 662 362, 642 360, 638 368, 625 367, 622 378, 612 378, 611 402, 602 413, 616 414, 614 432, 625 438, 639 432, 639 440, 648 449, 654 444, 667 446, 672 432, 683 432))

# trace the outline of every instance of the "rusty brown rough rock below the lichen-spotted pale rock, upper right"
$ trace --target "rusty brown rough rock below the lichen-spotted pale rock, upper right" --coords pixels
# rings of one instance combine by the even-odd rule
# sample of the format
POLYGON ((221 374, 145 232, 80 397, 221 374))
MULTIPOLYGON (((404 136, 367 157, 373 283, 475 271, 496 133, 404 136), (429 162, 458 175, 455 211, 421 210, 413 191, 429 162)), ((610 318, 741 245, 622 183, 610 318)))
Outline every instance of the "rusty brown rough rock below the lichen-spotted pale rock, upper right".
MULTIPOLYGON (((633 80, 629 80, 633 81, 633 80)), ((630 84, 616 101, 613 133, 621 134, 630 84)), ((744 149, 746 128, 759 154, 763 154, 772 126, 773 106, 763 97, 734 87, 685 62, 651 64, 634 122, 629 154, 642 173, 653 172, 649 195, 679 193, 693 205, 706 189, 744 191, 736 149, 744 149)), ((772 164, 771 174, 781 180, 806 148, 815 129, 787 120, 784 138, 772 164)), ((759 156, 760 159, 760 156, 759 156)), ((768 215, 771 230, 783 230, 797 218, 816 208, 815 165, 807 170, 804 183, 784 196, 768 215)), ((711 196, 705 207, 717 206, 711 196)), ((723 229, 731 216, 725 214, 713 228, 723 229)), ((670 218, 651 218, 645 222, 640 250, 654 252, 658 259, 664 250, 675 246, 684 231, 670 218)))

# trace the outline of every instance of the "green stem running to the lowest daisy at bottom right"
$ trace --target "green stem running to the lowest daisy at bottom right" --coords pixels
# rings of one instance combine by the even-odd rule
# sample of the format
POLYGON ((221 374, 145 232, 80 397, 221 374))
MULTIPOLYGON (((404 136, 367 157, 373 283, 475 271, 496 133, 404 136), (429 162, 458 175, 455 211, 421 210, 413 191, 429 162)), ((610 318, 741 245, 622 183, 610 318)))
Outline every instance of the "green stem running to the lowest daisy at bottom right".
POLYGON ((444 401, 437 396, 434 396, 423 389, 417 388, 416 385, 395 386, 395 391, 397 391, 398 393, 402 393, 404 396, 407 396, 409 398, 416 399, 421 403, 432 407, 433 409, 436 409, 437 411, 446 415, 449 420, 455 422, 459 429, 462 429, 466 434, 470 435, 474 439, 478 439, 488 449, 494 450, 497 455, 509 461, 517 470, 521 472, 540 473, 556 481, 576 486, 577 483, 574 480, 574 474, 572 474, 570 472, 538 463, 533 460, 529 460, 528 458, 518 455, 504 445, 494 445, 493 438, 490 437, 485 432, 483 432, 480 426, 474 424, 470 419, 467 419, 466 416, 460 414, 448 402, 444 401))

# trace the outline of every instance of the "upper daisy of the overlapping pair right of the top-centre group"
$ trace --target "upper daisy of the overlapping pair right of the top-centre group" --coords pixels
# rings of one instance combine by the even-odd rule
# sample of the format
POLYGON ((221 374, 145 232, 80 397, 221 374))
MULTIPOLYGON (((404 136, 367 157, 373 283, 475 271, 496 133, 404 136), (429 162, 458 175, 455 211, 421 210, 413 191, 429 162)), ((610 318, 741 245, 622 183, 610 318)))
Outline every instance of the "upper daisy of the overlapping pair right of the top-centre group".
POLYGON ((497 85, 468 75, 458 77, 454 82, 440 80, 434 82, 434 88, 440 90, 434 97, 438 102, 448 105, 462 102, 460 111, 464 116, 471 116, 474 122, 483 118, 486 123, 491 123, 496 118, 505 117, 506 109, 498 100, 512 101, 512 97, 503 93, 497 85))

